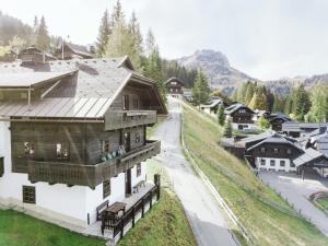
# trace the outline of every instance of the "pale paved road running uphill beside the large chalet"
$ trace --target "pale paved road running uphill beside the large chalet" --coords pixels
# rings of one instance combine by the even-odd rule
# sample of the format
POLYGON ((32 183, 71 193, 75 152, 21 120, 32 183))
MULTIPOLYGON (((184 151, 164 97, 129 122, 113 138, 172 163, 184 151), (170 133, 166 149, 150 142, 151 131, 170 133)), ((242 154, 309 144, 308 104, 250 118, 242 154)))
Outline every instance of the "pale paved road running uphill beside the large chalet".
POLYGON ((195 175, 185 159, 180 142, 180 106, 168 99, 169 116, 155 130, 153 138, 162 141, 162 153, 156 156, 165 165, 174 189, 181 200, 198 242, 203 246, 237 245, 230 233, 223 212, 202 180, 195 175))

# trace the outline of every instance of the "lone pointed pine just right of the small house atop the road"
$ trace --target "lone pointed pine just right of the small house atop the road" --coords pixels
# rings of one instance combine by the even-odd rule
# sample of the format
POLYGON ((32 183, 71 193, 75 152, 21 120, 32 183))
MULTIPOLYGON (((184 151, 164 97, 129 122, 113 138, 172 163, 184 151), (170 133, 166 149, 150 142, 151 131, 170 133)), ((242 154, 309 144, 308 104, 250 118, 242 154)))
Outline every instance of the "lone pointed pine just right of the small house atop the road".
POLYGON ((192 97, 196 105, 204 104, 208 102, 210 95, 210 87, 201 70, 198 70, 197 77, 194 82, 192 97))

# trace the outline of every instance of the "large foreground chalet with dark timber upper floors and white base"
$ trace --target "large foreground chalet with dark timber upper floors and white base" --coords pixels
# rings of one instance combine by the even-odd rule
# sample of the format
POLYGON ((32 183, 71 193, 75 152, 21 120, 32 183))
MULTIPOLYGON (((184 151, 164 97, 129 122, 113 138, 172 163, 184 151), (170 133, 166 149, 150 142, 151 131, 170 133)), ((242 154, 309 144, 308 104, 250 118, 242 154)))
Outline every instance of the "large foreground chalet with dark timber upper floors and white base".
POLYGON ((128 57, 35 51, 0 65, 0 203, 87 227, 147 180, 144 161, 161 151, 147 127, 167 110, 128 57))

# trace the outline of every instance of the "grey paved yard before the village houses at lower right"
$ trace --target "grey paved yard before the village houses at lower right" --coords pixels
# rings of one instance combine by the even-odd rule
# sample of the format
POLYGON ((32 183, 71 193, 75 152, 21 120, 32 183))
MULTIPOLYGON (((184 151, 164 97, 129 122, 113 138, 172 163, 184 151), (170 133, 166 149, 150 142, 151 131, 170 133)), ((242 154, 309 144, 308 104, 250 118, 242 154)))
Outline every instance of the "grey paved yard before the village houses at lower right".
POLYGON ((327 179, 319 178, 316 175, 302 180, 298 175, 269 172, 261 172, 259 176, 281 192, 284 198, 288 198, 289 202, 294 204, 296 211, 301 209, 303 215, 309 218, 312 223, 328 236, 328 216, 308 201, 312 194, 328 190, 327 179))

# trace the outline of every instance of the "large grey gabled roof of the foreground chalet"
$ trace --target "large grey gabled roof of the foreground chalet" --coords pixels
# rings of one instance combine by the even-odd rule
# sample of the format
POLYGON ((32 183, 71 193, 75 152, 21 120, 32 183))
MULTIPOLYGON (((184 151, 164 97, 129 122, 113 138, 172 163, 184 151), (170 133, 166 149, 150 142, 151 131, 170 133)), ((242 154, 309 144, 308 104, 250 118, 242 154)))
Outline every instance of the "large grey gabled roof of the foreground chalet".
MULTIPOLYGON (((47 63, 21 66, 21 63, 0 65, 0 78, 32 78, 35 83, 43 79, 59 79, 58 75, 73 73, 63 78, 46 98, 33 102, 0 103, 0 117, 103 117, 115 98, 128 83, 137 83, 152 90, 152 98, 159 105, 159 114, 167 114, 166 106, 154 81, 121 66, 127 58, 58 60, 47 63), (58 108, 61 105, 63 108, 58 108)), ((12 80, 13 80, 12 79, 12 80)), ((1 79, 0 79, 1 81, 1 79)), ((31 84, 30 80, 20 82, 31 84)))

